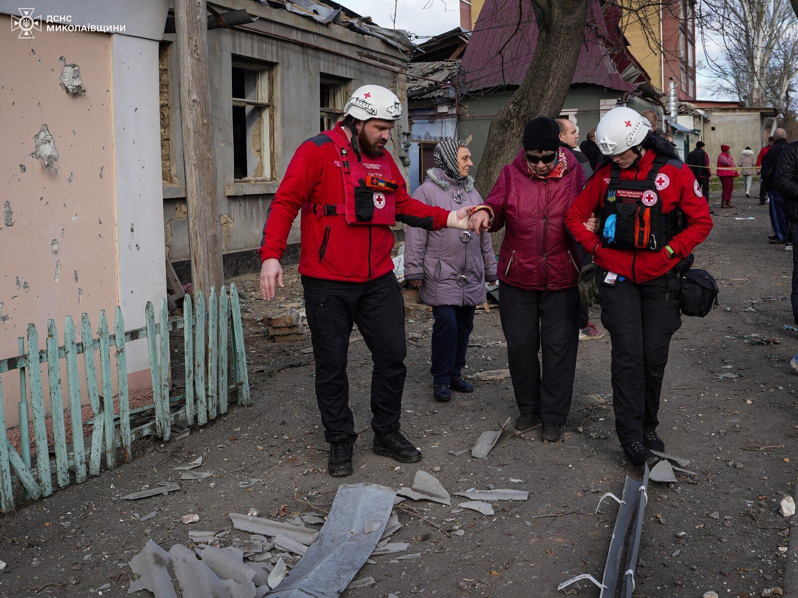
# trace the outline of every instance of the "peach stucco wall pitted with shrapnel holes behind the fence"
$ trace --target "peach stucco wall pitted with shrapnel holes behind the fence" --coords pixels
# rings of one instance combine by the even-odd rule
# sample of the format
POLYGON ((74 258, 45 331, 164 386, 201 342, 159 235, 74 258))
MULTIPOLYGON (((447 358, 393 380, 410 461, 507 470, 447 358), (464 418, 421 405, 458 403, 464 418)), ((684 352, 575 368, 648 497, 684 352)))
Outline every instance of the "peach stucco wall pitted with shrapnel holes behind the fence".
MULTIPOLYGON (((0 359, 18 354, 17 338, 29 323, 44 348, 48 318, 63 344, 66 315, 79 327, 88 313, 96 331, 100 310, 113 326, 119 305, 111 38, 48 32, 21 40, 6 34, 10 28, 0 15, 0 207, 8 202, 13 222, 0 222, 0 359), (59 85, 65 63, 80 66, 85 94, 69 96, 59 85), (59 152, 55 175, 30 155, 42 124, 59 152)), ((18 421, 17 372, 2 382, 11 426, 18 421)))

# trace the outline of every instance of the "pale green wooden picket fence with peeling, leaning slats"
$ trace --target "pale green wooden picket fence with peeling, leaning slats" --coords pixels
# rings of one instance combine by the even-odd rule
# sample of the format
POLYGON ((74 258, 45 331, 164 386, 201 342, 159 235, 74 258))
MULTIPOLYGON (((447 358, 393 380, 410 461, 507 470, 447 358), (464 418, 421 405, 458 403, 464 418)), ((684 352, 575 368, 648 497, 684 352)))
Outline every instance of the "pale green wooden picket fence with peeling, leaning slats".
MULTIPOLYGON (((99 475, 103 454, 105 466, 109 470, 117 466, 118 448, 122 450, 124 462, 128 462, 132 458, 134 440, 145 435, 156 435, 168 440, 172 433, 172 423, 176 421, 202 426, 208 420, 227 412, 228 397, 233 391, 236 403, 251 404, 241 304, 234 284, 229 285, 229 289, 222 287, 219 293, 216 289, 211 289, 207 304, 202 291, 196 293, 196 305, 192 305, 192 298, 186 295, 183 317, 169 317, 166 299, 160 304, 160 322, 157 321, 159 318, 156 317, 155 308, 150 301, 147 302, 144 314, 146 325, 143 328, 125 332, 122 311, 117 306, 113 334, 110 334, 105 310, 101 310, 95 337, 89 316, 84 313, 81 316, 81 342, 77 342, 72 317, 67 316, 64 323, 64 343, 61 345, 56 324, 50 320, 45 348, 42 350, 39 350, 36 327, 29 324, 26 339, 22 336, 19 339, 20 355, 0 360, 0 374, 18 370, 20 377, 20 452, 17 452, 7 437, 0 439, 0 508, 4 513, 14 510, 15 481, 24 488, 28 498, 36 500, 49 496, 53 494, 53 468, 59 488, 73 482, 70 473, 73 474, 74 482, 85 482, 87 455, 88 475, 99 475), (169 332, 180 329, 184 331, 185 391, 181 395, 172 396, 169 332), (149 347, 153 403, 131 410, 125 344, 143 338, 147 339, 149 347), (111 347, 115 347, 113 356, 116 357, 117 364, 116 394, 111 375, 111 347), (97 372, 95 352, 99 352, 100 372, 97 372), (92 432, 88 438, 84 437, 81 416, 81 375, 78 372, 77 358, 81 354, 85 385, 93 411, 92 432), (65 386, 69 416, 73 423, 69 445, 64 418, 61 359, 65 360, 65 386), (52 446, 48 442, 45 427, 41 364, 47 364, 52 446), (228 372, 233 374, 232 384, 228 384, 228 372), (35 469, 30 451, 29 394, 36 449, 35 469), (119 415, 114 413, 114 398, 118 399, 119 415), (134 426, 137 420, 144 423, 134 426), (50 459, 51 450, 54 453, 53 461, 50 459)), ((2 376, 0 431, 6 431, 2 376)))

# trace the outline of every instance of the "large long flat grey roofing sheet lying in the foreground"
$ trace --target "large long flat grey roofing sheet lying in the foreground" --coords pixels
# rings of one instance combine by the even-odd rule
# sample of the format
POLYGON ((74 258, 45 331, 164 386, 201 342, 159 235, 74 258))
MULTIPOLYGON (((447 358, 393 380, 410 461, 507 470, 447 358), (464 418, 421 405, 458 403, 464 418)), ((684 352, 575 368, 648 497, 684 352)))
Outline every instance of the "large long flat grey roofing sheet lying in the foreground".
MULTIPOLYGON (((380 541, 395 492, 377 484, 340 486, 330 515, 306 555, 291 570, 273 598, 338 598, 380 541), (365 533, 368 521, 377 528, 365 533)), ((370 527, 370 526, 369 526, 370 527)))

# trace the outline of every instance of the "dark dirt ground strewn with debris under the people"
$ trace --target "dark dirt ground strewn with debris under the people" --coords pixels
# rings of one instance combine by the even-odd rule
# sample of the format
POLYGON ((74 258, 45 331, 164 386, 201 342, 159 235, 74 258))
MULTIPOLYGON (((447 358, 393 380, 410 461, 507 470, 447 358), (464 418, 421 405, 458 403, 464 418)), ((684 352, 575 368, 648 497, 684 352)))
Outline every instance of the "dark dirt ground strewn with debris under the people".
MULTIPOLYGON (((709 590, 760 596, 783 583, 779 547, 788 545, 789 522, 778 513, 778 502, 794 488, 798 459, 798 378, 789 365, 798 334, 782 329, 792 325, 792 255, 768 244, 768 208, 739 195, 734 210, 718 209, 713 199, 715 228, 696 252, 697 266, 717 277, 721 307, 704 319, 684 318, 663 387, 660 433, 667 450, 691 459, 689 469, 698 475, 650 484, 635 596, 701 596, 709 590), (749 217, 755 219, 737 219, 749 217)), ((301 296, 295 271, 286 278, 290 284, 275 305, 301 296)), ((314 510, 301 498, 330 505, 342 479, 325 472, 312 356, 302 352, 309 343, 267 344, 257 318, 273 305, 257 297, 254 275, 237 282, 248 295, 244 316, 254 406, 233 408, 180 441, 140 443, 131 463, 4 517, 0 559, 8 566, 0 574, 2 596, 125 596, 127 563, 148 539, 166 549, 190 544, 189 529, 231 530, 227 541, 245 539, 227 513, 255 508, 275 517, 281 507, 286 516, 314 510), (286 366, 292 367, 274 372, 286 366), (180 472, 173 468, 199 455, 201 469, 215 477, 180 482, 181 490, 172 494, 118 500, 144 484, 178 481, 180 472), (239 486, 249 486, 252 478, 260 481, 239 486), (156 510, 148 521, 136 518, 156 510), (197 513, 199 523, 181 524, 186 513, 197 513), (37 593, 45 584, 50 585, 37 593)), ((617 508, 593 514, 596 504, 605 492, 620 494, 627 474, 641 474, 626 466, 614 435, 609 338, 579 345, 563 442, 505 435, 488 458, 478 460, 460 451, 516 415, 511 383, 484 382, 472 395, 434 403, 431 326, 429 313, 416 311, 407 319, 402 423, 424 451, 413 465, 400 466, 370 450, 370 356, 362 341, 352 344, 351 403, 362 435, 355 473, 345 482, 410 486, 423 469, 434 472, 450 493, 493 486, 528 490, 529 499, 497 502, 492 517, 470 510, 451 514, 457 497, 451 507, 407 501, 446 532, 463 535, 447 535, 400 511, 403 527, 393 540, 409 541, 407 553, 421 557, 393 563, 397 555, 374 557, 377 564, 365 565, 358 577, 373 576, 377 584, 344 596, 559 596, 557 584, 571 576, 588 572, 601 579, 617 508)), ((353 338, 358 336, 355 331, 353 338)), ((467 373, 507 368, 506 349, 496 344, 503 338, 498 311, 478 312, 467 373)), ((581 584, 578 593, 598 596, 591 584, 581 584)))

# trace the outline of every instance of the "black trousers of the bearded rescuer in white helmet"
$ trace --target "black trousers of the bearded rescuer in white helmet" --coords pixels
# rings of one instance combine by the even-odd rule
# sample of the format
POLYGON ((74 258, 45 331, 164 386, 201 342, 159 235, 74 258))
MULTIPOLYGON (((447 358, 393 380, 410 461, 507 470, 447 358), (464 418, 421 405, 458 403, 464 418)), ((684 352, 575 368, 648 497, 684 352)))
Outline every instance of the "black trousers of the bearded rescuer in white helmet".
POLYGON ((302 277, 305 308, 316 360, 316 400, 324 436, 346 435, 354 442, 346 357, 357 322, 371 351, 371 427, 384 436, 399 422, 405 386, 405 302, 393 272, 373 281, 340 282, 302 277))

